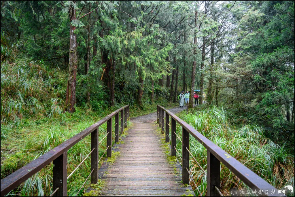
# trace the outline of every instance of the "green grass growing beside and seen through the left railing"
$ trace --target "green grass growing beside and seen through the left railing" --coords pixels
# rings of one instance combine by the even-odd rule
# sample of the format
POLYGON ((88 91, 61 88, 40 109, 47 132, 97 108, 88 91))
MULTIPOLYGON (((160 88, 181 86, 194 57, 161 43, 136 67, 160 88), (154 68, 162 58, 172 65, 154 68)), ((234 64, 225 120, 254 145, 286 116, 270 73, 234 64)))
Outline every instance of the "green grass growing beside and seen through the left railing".
MULTIPOLYGON (((75 126, 71 127, 70 125, 64 127, 58 127, 53 125, 52 127, 48 127, 44 129, 42 132, 38 134, 32 134, 27 140, 25 148, 20 150, 17 154, 12 155, 7 158, 3 162, 3 168, 1 169, 1 178, 6 176, 5 172, 12 173, 18 168, 26 165, 30 161, 40 157, 46 152, 52 150, 54 147, 60 145, 65 142, 67 139, 73 137, 78 134, 82 130, 91 126, 96 122, 94 119, 86 118, 85 116, 81 117, 81 111, 76 110, 74 114, 79 116, 83 120, 75 124, 75 126), (17 166, 13 170, 10 170, 12 163, 22 157, 24 163, 22 166, 17 166), (10 171, 9 171, 10 170, 10 171)), ((113 127, 115 125, 114 121, 112 122, 113 127)), ((127 126, 130 126, 130 122, 127 122, 127 126)), ((106 135, 106 123, 99 127, 99 141, 106 135)), ((112 138, 114 138, 114 129, 112 130, 112 138)), ((113 141, 114 143, 114 141, 113 141)), ((106 150, 106 138, 99 144, 99 158, 103 155, 106 150)), ((91 137, 90 135, 86 136, 76 145, 71 147, 68 150, 68 174, 70 174, 79 163, 89 154, 91 151, 91 137)), ((104 155, 106 157, 106 154, 104 155)), ((103 162, 103 159, 100 162, 103 162)), ((53 192, 52 188, 52 168, 53 163, 47 165, 45 168, 40 170, 38 173, 30 177, 24 183, 20 185, 17 190, 14 190, 10 193, 10 195, 20 195, 20 196, 49 196, 53 192)), ((76 170, 76 172, 68 179, 68 196, 75 196, 81 185, 91 172, 91 156, 89 156, 83 164, 76 170)), ((90 185, 90 180, 88 180, 85 188, 90 185)), ((78 196, 83 195, 84 190, 82 189, 78 196)))

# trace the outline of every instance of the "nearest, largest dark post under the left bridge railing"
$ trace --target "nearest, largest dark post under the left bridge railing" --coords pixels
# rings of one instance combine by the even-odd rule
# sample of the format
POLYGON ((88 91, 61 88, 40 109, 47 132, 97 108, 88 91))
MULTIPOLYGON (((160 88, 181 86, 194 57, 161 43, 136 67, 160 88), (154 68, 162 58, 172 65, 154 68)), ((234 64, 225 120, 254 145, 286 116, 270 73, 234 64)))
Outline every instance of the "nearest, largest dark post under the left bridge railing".
POLYGON ((67 170, 68 151, 53 160, 53 191, 58 188, 53 196, 67 196, 67 170))

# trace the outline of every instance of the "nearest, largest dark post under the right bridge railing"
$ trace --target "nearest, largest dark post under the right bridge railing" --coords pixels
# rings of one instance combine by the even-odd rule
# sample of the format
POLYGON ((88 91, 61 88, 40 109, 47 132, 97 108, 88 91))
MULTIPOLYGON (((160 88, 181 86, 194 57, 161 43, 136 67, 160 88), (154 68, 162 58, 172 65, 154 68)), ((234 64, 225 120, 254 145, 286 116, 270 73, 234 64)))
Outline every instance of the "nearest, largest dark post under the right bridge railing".
POLYGON ((220 196, 220 161, 207 150, 207 196, 220 196))

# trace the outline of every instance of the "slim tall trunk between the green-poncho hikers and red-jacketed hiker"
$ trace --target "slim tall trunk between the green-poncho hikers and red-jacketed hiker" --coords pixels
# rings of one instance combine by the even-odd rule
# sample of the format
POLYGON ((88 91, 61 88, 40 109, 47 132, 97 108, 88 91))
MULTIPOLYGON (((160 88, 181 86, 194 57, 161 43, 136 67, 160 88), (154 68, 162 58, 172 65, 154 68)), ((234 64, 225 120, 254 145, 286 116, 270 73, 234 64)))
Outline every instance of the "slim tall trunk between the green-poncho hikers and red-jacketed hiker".
MULTIPOLYGON (((195 32, 194 32, 194 55, 196 55, 196 45, 197 45, 197 18, 198 18, 198 11, 197 11, 197 4, 196 3, 196 11, 195 11, 195 32)), ((195 78, 196 78, 196 61, 193 61, 193 68, 191 70, 191 92, 189 95, 189 107, 194 107, 194 88, 195 88, 195 78)))

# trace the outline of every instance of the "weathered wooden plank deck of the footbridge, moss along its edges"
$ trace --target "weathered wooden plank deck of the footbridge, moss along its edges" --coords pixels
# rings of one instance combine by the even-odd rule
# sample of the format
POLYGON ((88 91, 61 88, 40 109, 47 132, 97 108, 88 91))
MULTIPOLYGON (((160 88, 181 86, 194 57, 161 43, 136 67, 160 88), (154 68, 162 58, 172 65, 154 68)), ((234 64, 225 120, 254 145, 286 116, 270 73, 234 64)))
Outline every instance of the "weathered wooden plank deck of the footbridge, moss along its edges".
MULTIPOLYGON (((99 178, 104 187, 100 196, 186 196, 193 195, 191 186, 181 183, 181 165, 167 160, 161 135, 155 123, 134 123, 124 143, 113 146, 118 152, 115 162, 104 161, 99 178)), ((164 141, 165 142, 165 141, 164 141)), ((86 192, 95 190, 88 188, 86 192)), ((97 195, 98 196, 98 195, 97 195)))

